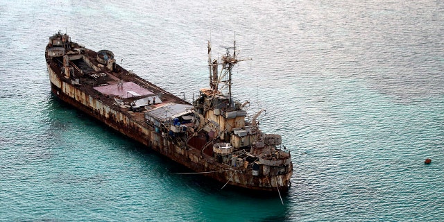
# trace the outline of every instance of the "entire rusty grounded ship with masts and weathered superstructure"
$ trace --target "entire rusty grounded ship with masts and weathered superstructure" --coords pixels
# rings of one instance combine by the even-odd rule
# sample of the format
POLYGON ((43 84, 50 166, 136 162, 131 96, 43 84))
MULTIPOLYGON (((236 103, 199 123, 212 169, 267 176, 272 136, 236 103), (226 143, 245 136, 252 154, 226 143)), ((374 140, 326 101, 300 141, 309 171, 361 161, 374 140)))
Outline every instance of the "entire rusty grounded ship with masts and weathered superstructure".
POLYGON ((259 129, 264 110, 249 116, 248 101, 232 98, 236 42, 221 58, 207 47, 210 87, 192 104, 124 69, 112 51, 87 49, 60 31, 45 58, 51 92, 110 128, 223 187, 287 191, 293 163, 282 137, 259 129))

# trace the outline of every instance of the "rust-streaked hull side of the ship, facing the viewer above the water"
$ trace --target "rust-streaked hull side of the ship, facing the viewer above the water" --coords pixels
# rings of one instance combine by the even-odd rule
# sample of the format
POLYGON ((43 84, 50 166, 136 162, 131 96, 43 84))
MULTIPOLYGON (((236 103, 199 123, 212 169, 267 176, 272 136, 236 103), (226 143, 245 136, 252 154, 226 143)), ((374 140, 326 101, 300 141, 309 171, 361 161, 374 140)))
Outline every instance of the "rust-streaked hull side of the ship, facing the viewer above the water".
MULTIPOLYGON (((204 158, 197 149, 171 142, 161 133, 156 133, 154 128, 131 118, 127 113, 119 112, 117 108, 101 102, 100 98, 94 98, 79 87, 61 80, 60 75, 56 74, 50 65, 48 65, 48 73, 51 91, 59 99, 192 171, 214 171, 205 173, 203 176, 213 178, 223 184, 228 183, 232 187, 253 191, 277 191, 278 187, 280 191, 287 191, 289 188, 292 171, 276 176, 253 176, 251 169, 234 169, 216 162, 214 158, 204 158)), ((292 168, 292 164, 289 167, 292 168)))

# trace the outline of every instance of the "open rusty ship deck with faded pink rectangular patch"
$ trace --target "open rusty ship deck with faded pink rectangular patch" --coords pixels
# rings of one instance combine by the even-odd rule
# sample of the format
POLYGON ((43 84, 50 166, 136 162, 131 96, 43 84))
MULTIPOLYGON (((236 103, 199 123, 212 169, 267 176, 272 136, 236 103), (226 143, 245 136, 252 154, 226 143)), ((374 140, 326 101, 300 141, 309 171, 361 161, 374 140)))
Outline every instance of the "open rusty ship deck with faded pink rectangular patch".
MULTIPOLYGON (((129 105, 138 99, 145 97, 151 99, 151 104, 144 106, 145 110, 159 108, 168 103, 191 105, 178 96, 174 96, 164 89, 157 87, 157 85, 140 78, 132 71, 123 69, 123 67, 117 64, 114 69, 115 71, 109 71, 96 60, 97 53, 95 51, 85 48, 81 49, 81 46, 77 44, 74 45, 80 48, 84 58, 87 58, 90 63, 87 64, 85 59, 81 58, 78 60, 70 60, 70 65, 75 67, 73 70, 74 78, 78 79, 78 84, 74 86, 80 88, 89 96, 100 99, 100 101, 106 105, 114 107, 114 109, 126 114, 131 119, 135 119, 139 124, 143 126, 147 125, 146 121, 144 121, 144 114, 130 110, 129 105), (92 67, 96 67, 96 69, 92 67), (122 103, 117 103, 114 98, 119 99, 122 103), (155 99, 155 103, 152 102, 153 99, 155 99)), ((51 69, 60 74, 61 80, 71 83, 70 78, 65 78, 65 76, 61 74, 62 64, 62 58, 53 58, 51 62, 49 62, 51 69)), ((168 111, 164 110, 163 112, 168 111)))

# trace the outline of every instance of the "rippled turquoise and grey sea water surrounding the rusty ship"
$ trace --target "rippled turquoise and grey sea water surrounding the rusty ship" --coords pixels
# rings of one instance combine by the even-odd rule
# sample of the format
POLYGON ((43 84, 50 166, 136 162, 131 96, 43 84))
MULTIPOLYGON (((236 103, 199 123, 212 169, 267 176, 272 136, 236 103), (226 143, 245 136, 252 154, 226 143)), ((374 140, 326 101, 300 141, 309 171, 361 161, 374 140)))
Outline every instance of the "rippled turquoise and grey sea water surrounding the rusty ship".
POLYGON ((443 169, 443 1, 0 1, 0 221, 444 221, 443 169), (207 41, 236 40, 234 97, 291 151, 284 204, 58 101, 59 30, 188 101, 207 41))

